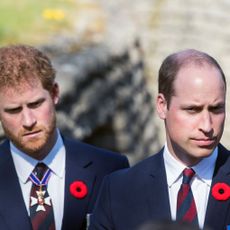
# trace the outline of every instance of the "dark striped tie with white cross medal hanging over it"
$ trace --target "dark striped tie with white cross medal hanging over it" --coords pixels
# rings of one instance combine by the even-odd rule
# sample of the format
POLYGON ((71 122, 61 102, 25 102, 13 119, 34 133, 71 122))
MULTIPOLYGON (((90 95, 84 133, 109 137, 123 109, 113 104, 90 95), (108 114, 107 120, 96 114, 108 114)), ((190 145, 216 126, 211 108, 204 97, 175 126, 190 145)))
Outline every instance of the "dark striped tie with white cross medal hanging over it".
POLYGON ((33 230, 55 230, 51 199, 47 191, 50 169, 38 163, 30 175, 33 182, 30 193, 30 219, 33 230))

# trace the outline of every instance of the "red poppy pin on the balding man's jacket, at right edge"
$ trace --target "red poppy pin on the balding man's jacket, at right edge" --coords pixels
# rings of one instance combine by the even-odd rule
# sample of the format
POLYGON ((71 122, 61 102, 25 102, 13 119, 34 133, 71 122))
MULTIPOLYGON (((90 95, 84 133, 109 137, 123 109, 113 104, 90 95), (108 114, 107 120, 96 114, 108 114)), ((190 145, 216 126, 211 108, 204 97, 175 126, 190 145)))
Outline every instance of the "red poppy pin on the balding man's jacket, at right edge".
POLYGON ((216 200, 228 200, 230 198, 230 187, 225 183, 216 183, 212 187, 212 196, 216 200))

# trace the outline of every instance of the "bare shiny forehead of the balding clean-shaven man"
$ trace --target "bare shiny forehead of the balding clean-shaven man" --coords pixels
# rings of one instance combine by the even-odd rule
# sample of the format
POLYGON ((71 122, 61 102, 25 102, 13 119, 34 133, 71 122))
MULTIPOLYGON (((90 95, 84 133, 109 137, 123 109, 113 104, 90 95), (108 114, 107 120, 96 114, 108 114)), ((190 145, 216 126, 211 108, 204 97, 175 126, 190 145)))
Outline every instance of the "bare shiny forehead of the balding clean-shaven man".
POLYGON ((190 65, 180 69, 174 82, 174 96, 180 100, 216 101, 225 98, 220 71, 211 65, 190 65))

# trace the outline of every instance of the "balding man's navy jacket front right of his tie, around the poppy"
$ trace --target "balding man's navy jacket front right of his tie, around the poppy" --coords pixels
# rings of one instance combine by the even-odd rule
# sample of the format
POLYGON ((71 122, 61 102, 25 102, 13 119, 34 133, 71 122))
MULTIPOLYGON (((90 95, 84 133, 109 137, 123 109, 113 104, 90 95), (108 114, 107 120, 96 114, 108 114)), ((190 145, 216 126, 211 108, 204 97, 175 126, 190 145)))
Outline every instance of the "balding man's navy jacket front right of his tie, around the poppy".
MULTIPOLYGON (((209 193, 208 207, 205 218, 205 226, 211 229, 226 229, 226 217, 229 215, 230 199, 218 201, 212 196, 212 187, 216 183, 226 183, 230 186, 230 158, 229 152, 219 145, 218 158, 209 193)), ((230 223, 228 223, 230 224, 230 223)))

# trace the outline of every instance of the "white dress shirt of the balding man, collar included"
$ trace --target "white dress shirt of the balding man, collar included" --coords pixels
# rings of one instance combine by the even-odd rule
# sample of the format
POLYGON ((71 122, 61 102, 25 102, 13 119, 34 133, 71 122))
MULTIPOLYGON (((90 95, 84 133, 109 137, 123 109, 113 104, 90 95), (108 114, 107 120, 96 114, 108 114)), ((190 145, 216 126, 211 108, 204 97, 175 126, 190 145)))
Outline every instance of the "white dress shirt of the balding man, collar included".
MULTIPOLYGON (((217 154, 218 148, 216 147, 209 157, 202 159, 197 165, 192 167, 196 174, 192 178, 191 189, 196 203, 200 228, 203 228, 204 226, 217 154)), ((163 157, 168 183, 171 217, 172 220, 176 220, 177 194, 182 183, 182 171, 186 168, 186 166, 182 162, 176 160, 176 158, 169 152, 167 144, 165 144, 163 157)))

